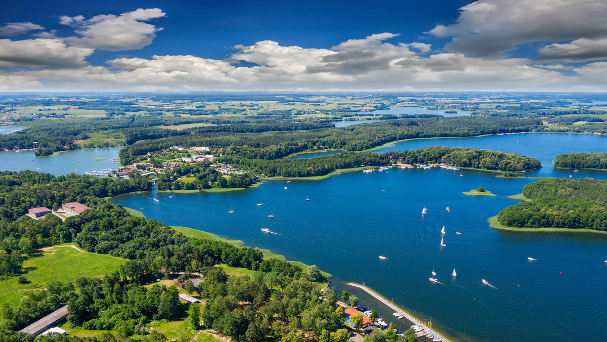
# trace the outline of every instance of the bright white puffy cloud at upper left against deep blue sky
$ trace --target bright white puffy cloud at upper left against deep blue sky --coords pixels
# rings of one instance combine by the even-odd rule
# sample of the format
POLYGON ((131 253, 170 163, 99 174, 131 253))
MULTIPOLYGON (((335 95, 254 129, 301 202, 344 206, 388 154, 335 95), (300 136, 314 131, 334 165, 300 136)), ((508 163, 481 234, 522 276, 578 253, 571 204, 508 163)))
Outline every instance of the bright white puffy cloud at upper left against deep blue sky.
POLYGON ((61 24, 75 27, 80 36, 64 38, 75 46, 101 50, 119 51, 141 49, 152 43, 156 32, 162 30, 149 21, 165 15, 160 9, 137 9, 121 15, 62 16, 61 24))

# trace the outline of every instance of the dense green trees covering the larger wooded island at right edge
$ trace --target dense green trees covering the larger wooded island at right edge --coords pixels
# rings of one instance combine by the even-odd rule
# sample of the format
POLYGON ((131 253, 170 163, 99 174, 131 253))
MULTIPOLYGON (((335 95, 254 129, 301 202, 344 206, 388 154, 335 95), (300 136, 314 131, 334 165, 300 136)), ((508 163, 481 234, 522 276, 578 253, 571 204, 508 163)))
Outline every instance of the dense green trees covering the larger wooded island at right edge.
POLYGON ((523 194, 531 202, 500 211, 501 224, 607 231, 607 180, 543 179, 525 185, 523 194))

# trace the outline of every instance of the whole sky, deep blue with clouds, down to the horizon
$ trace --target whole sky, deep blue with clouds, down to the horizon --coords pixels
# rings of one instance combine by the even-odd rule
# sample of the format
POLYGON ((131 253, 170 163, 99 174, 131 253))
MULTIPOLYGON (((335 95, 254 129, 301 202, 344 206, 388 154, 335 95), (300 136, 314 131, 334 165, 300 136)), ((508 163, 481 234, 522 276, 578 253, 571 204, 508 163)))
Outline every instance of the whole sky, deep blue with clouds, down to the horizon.
POLYGON ((0 91, 605 91, 604 0, 21 1, 0 91))

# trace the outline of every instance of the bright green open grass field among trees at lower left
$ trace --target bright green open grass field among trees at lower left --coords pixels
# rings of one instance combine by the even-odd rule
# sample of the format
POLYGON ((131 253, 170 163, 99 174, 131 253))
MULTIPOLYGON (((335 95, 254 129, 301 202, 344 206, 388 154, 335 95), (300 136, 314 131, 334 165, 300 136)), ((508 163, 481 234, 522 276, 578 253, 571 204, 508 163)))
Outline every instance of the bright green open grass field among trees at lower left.
POLYGON ((44 289, 49 281, 74 282, 80 276, 96 277, 113 273, 126 260, 108 255, 83 253, 72 247, 56 246, 23 262, 27 284, 18 284, 17 277, 0 279, 0 303, 12 306, 30 290, 44 289), (78 265, 77 272, 73 265, 78 265))

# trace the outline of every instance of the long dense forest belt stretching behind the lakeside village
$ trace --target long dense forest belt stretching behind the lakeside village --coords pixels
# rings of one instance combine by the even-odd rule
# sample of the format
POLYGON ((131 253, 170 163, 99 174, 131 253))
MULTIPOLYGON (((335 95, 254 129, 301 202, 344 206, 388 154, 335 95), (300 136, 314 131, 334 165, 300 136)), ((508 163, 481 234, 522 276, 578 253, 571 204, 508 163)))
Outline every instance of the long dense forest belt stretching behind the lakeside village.
POLYGON ((430 137, 469 137, 503 132, 535 131, 538 119, 501 117, 432 117, 387 120, 379 123, 312 131, 263 132, 261 134, 180 135, 127 146, 120 151, 121 163, 174 145, 231 148, 226 151, 248 159, 276 159, 317 149, 362 151, 396 140, 430 137))

